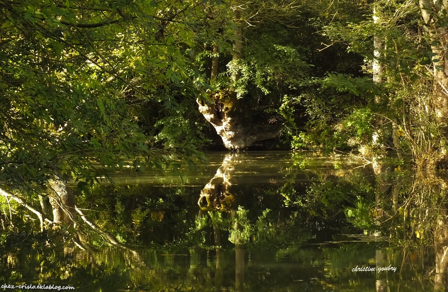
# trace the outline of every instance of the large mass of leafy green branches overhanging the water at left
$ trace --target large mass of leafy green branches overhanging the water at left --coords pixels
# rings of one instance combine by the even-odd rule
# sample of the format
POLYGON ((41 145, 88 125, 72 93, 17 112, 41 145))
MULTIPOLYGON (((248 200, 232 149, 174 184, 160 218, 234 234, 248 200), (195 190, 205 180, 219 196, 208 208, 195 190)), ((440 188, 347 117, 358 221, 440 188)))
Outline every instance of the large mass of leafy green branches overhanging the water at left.
MULTIPOLYGON (((23 0, 3 5, 0 182, 30 187, 57 174, 93 183, 137 159, 134 166, 140 170, 166 166, 170 159, 152 148, 135 113, 138 104, 152 101, 161 103, 166 115, 180 116, 179 107, 191 107, 204 92, 189 75, 183 53, 194 45, 195 27, 207 21, 190 6, 194 3, 23 0), (182 16, 173 14, 173 7, 182 16), (190 103, 176 100, 176 94, 190 103)), ((162 117, 160 123, 167 121, 162 117)), ((166 125, 156 141, 182 147, 182 139, 203 140, 197 139, 199 130, 174 135, 200 129, 185 120, 176 129, 175 122, 180 120, 166 125)), ((184 145, 187 151, 193 148, 184 145)))

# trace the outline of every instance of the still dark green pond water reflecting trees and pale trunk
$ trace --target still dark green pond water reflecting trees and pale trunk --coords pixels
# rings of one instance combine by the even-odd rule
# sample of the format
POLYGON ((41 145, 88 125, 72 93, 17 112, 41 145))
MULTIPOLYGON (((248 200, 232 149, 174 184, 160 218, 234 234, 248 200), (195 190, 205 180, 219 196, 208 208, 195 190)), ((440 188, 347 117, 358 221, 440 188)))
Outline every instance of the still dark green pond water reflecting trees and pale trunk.
POLYGON ((342 154, 206 157, 181 176, 129 170, 75 192, 77 227, 6 212, 1 288, 447 291, 443 180, 342 154))

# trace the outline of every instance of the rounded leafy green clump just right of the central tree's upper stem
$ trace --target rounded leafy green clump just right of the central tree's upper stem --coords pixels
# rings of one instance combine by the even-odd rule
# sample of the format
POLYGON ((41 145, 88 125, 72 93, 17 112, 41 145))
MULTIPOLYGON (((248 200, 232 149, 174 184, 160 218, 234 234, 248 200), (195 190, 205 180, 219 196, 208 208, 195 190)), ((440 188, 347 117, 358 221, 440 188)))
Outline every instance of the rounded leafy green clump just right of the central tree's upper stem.
MULTIPOLYGON (((309 79, 310 49, 294 42, 297 32, 276 23, 248 31, 250 45, 244 50, 246 66, 241 68, 245 93, 254 96, 283 96, 309 79)), ((266 98, 265 97, 265 98, 266 98)))

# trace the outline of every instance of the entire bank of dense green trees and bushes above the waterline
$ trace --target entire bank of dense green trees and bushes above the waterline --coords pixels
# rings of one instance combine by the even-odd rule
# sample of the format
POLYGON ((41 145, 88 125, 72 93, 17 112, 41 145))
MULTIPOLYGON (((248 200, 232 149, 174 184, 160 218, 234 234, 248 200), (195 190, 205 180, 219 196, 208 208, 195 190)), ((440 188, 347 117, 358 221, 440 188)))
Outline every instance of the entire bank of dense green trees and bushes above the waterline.
POLYGON ((5 0, 0 8, 5 186, 33 188, 54 175, 92 182, 129 162, 162 167, 175 153, 223 144, 364 146, 412 155, 421 168, 445 165, 443 3, 5 0))

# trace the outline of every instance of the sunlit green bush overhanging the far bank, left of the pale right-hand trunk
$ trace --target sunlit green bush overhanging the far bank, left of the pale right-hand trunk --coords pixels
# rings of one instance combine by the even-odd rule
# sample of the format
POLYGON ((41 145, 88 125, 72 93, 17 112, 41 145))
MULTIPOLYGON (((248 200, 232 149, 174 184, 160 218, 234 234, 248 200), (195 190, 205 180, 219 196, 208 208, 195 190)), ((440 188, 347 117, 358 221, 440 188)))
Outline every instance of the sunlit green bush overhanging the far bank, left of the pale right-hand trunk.
POLYGON ((306 132, 293 136, 294 149, 333 149, 367 143, 373 132, 373 113, 368 104, 378 93, 367 77, 328 74, 302 94, 310 120, 306 132))

